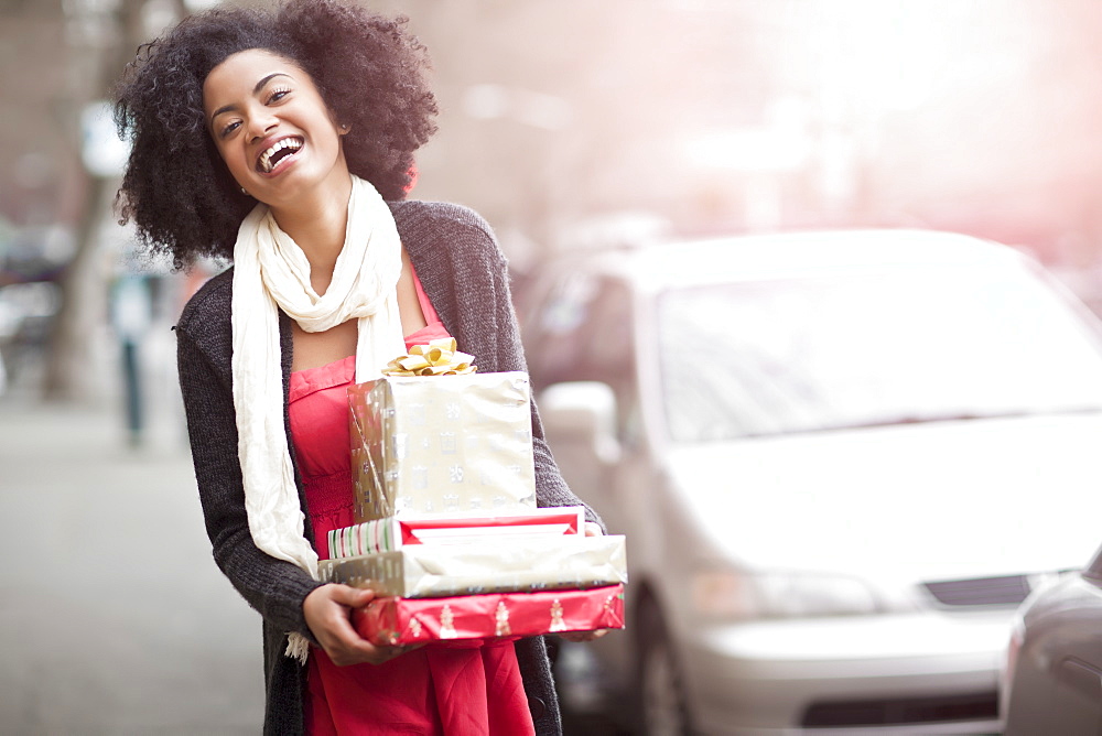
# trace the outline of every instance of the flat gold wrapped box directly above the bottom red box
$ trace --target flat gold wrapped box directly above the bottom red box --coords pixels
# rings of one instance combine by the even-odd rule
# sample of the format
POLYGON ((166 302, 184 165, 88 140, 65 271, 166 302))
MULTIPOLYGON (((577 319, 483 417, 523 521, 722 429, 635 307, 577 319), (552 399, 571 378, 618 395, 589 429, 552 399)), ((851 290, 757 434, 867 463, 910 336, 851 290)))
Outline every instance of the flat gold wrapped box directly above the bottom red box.
POLYGON ((322 582, 380 596, 429 598, 588 588, 627 582, 623 535, 560 535, 463 544, 407 544, 395 552, 323 560, 322 582))

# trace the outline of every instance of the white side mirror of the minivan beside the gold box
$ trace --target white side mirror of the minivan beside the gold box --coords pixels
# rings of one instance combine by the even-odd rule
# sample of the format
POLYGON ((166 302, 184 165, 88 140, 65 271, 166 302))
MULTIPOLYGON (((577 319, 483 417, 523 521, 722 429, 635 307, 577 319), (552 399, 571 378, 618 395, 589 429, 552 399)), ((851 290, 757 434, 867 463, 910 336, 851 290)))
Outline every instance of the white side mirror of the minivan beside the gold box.
POLYGON ((599 381, 553 383, 539 397, 540 418, 552 451, 568 443, 586 445, 603 462, 619 457, 616 394, 599 381))

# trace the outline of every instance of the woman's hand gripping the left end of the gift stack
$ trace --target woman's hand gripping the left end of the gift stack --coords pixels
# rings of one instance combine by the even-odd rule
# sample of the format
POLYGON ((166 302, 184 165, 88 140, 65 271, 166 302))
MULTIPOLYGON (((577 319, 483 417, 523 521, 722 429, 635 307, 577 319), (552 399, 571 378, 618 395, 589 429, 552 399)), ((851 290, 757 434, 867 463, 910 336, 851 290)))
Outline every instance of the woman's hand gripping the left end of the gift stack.
POLYGON ((328 583, 314 588, 302 602, 306 626, 334 664, 382 664, 420 646, 376 647, 357 634, 352 626, 352 610, 374 598, 375 591, 328 583))

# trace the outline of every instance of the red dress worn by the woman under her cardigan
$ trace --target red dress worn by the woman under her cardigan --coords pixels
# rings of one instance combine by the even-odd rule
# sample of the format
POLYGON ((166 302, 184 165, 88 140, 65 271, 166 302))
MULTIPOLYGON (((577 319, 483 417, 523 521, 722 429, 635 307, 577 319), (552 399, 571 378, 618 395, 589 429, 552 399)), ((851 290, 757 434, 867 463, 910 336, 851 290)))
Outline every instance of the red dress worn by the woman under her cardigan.
MULTIPOLYGON (((407 349, 447 337, 413 277, 428 325, 406 337, 407 349)), ((461 346, 462 348, 462 346, 461 346)), ((355 356, 291 374, 290 419, 310 522, 321 559, 327 534, 355 523, 346 389, 355 356)), ((337 667, 310 650, 307 734, 534 734, 511 641, 428 646, 385 664, 337 667)))

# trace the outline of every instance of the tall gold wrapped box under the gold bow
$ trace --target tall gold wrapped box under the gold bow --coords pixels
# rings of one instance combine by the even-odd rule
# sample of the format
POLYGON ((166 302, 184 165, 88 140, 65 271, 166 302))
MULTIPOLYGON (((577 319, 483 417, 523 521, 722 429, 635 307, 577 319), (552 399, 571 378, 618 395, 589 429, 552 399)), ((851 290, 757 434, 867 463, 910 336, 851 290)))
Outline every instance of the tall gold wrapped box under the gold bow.
POLYGON ((521 371, 348 389, 356 521, 536 508, 529 392, 521 371))

